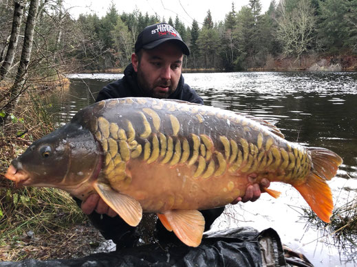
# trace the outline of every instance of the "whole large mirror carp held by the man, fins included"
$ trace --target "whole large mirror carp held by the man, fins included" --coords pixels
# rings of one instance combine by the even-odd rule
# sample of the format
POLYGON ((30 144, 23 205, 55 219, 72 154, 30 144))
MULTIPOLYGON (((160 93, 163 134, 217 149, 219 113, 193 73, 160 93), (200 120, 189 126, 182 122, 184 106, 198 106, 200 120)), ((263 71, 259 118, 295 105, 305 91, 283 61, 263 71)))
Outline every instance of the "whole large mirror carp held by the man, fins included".
POLYGON ((199 210, 231 203, 262 178, 292 185, 329 222, 334 204, 327 181, 342 162, 244 113, 127 97, 78 111, 34 141, 5 176, 17 186, 57 187, 81 200, 99 194, 133 227, 143 212, 157 213, 184 244, 199 246, 205 223, 199 210))

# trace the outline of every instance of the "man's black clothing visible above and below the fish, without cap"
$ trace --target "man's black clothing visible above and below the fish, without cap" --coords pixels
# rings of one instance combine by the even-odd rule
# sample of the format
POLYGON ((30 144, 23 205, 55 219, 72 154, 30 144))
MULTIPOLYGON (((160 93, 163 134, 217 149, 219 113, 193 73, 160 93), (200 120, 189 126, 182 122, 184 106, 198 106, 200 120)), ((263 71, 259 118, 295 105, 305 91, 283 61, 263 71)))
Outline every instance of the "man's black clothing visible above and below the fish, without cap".
MULTIPOLYGON (((125 69, 123 78, 117 80, 116 82, 111 82, 99 92, 96 102, 110 98, 148 96, 149 95, 142 91, 142 89, 138 86, 136 72, 130 64, 125 69)), ((195 90, 191 89, 188 84, 184 83, 184 78, 182 76, 180 77, 177 89, 169 95, 168 98, 204 104, 202 98, 197 95, 195 90)), ((77 200, 77 202, 78 205, 80 205, 80 200, 77 200)), ((205 230, 210 229, 210 225, 218 216, 221 215, 223 211, 224 207, 201 211, 206 222, 205 230)), ((124 222, 124 220, 122 220, 119 216, 111 218, 105 214, 100 215, 94 211, 89 215, 89 219, 94 226, 100 230, 105 239, 111 239, 117 244, 117 248, 132 247, 138 244, 140 236, 136 231, 136 227, 129 226, 129 224, 124 222)), ((161 222, 157 224, 156 229, 156 237, 160 242, 177 242, 177 237, 175 237, 173 232, 169 232, 164 229, 161 222)))

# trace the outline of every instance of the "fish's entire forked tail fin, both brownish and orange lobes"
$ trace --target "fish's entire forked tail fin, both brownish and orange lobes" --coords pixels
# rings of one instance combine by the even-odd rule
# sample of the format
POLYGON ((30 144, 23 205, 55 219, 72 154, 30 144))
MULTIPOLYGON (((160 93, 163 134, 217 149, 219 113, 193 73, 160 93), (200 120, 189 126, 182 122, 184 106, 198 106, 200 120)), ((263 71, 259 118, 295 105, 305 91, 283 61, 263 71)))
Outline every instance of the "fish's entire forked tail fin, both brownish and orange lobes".
POLYGON ((305 183, 294 185, 311 209, 324 222, 329 222, 334 209, 332 193, 326 180, 336 175, 342 159, 336 153, 325 148, 307 148, 312 159, 312 172, 305 183))

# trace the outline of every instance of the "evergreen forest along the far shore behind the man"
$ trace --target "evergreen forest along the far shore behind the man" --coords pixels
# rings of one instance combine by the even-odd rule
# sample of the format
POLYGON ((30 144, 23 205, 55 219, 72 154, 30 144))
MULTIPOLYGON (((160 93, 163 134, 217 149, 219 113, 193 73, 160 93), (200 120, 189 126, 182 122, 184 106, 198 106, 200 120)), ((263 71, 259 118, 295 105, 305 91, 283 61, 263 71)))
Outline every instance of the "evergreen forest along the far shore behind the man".
POLYGON ((120 12, 115 3, 105 16, 80 14, 74 19, 62 0, 1 0, 0 80, 17 69, 30 2, 37 2, 38 10, 28 71, 41 75, 123 68, 130 61, 138 33, 160 21, 173 25, 191 49, 186 69, 241 71, 291 69, 292 65, 306 69, 319 58, 329 58, 346 69, 354 67, 350 61, 357 54, 356 0, 272 0, 266 12, 261 11, 259 0, 250 0, 240 10, 232 1, 224 21, 215 21, 207 10, 204 21, 193 20, 189 26, 179 16, 120 12), (17 5, 21 11, 14 12, 17 5), (16 21, 18 41, 13 43, 16 21), (9 53, 14 54, 10 62, 6 60, 9 53), (285 59, 289 63, 283 63, 285 59))

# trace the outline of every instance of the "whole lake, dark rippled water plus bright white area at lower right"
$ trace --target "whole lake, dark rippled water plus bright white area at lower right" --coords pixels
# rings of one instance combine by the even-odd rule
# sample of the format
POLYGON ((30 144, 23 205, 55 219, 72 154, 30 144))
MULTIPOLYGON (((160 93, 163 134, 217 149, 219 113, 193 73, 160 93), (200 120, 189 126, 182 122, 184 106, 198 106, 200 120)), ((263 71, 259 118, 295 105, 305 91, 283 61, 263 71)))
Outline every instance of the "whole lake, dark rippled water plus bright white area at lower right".
MULTIPOLYGON (((60 124, 93 103, 102 86, 121 78, 122 74, 67 77, 71 81, 69 89, 63 91, 63 97, 54 100, 60 124)), ((338 153, 344 162, 337 177, 329 183, 335 205, 343 205, 356 197, 357 73, 184 73, 184 78, 206 105, 261 117, 280 128, 289 141, 338 153)), ((230 212, 237 213, 239 219, 227 216, 215 222, 213 229, 250 225, 260 231, 273 227, 283 243, 303 252, 315 266, 354 266, 348 262, 349 252, 341 253, 327 244, 331 237, 306 227, 299 210, 305 202, 296 190, 285 185, 271 188, 282 191, 281 198, 275 201, 264 194, 255 203, 232 206, 230 212)))

